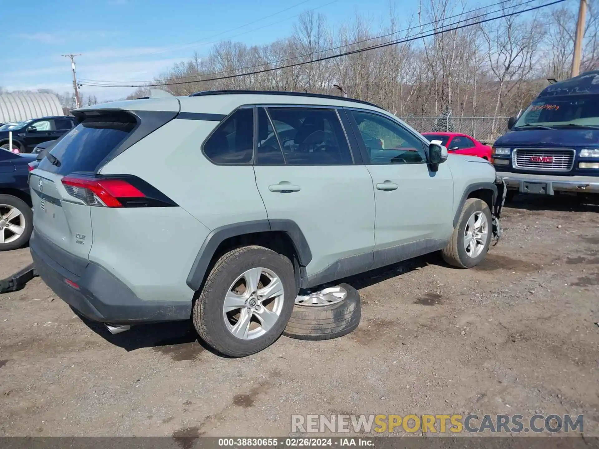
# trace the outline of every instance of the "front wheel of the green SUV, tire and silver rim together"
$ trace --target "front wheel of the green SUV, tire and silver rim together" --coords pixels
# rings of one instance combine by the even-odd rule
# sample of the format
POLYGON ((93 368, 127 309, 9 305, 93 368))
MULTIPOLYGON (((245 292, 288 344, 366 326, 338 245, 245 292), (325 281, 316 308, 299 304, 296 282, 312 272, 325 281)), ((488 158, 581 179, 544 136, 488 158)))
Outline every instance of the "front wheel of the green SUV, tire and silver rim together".
POLYGON ((441 251, 449 265, 471 268, 486 256, 491 243, 491 211, 486 202, 468 198, 462 207, 458 226, 441 251))

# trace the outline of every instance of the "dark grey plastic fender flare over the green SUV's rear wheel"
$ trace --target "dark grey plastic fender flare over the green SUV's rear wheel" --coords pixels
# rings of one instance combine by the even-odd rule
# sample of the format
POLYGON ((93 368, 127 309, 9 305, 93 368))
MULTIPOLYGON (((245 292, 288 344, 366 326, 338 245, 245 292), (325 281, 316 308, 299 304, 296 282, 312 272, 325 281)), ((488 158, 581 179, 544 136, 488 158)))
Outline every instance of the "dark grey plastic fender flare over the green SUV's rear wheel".
POLYGON ((210 265, 210 260, 212 260, 216 249, 225 239, 255 232, 271 231, 285 232, 291 238, 300 266, 304 267, 310 263, 310 260, 312 260, 310 247, 304 233, 293 220, 253 220, 251 222, 235 223, 234 225, 220 226, 211 230, 204 239, 204 243, 202 243, 202 247, 199 248, 198 255, 193 261, 189 275, 187 275, 187 286, 193 291, 199 290, 204 281, 208 265, 210 265))

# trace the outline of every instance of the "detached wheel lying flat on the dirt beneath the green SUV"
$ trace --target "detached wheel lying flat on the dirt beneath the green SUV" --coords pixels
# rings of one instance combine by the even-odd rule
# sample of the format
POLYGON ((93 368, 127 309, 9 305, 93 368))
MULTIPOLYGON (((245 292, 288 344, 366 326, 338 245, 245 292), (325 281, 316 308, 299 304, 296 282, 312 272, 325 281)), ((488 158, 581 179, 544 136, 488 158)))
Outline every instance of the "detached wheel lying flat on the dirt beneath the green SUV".
POLYGON ((295 299, 283 335, 301 340, 328 340, 358 327, 361 308, 358 290, 339 284, 295 299))

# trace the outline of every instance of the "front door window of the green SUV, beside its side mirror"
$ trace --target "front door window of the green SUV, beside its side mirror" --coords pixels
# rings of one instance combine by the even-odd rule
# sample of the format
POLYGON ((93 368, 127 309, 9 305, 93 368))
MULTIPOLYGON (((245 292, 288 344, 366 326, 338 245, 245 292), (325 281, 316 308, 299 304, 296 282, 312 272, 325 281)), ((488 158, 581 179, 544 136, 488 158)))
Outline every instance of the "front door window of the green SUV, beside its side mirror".
POLYGON ((407 129, 379 114, 352 111, 370 163, 426 162, 423 142, 407 129))

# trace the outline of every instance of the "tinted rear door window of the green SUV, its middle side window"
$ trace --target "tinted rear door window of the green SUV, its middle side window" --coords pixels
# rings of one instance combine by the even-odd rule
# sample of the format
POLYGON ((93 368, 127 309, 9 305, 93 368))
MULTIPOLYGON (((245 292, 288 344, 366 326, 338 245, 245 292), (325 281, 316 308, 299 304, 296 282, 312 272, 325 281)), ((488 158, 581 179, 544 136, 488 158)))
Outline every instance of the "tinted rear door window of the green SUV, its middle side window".
MULTIPOLYGON (((347 138, 334 109, 268 108, 287 165, 347 165, 353 163, 347 138)), ((259 125, 260 126, 260 125, 259 125)))

